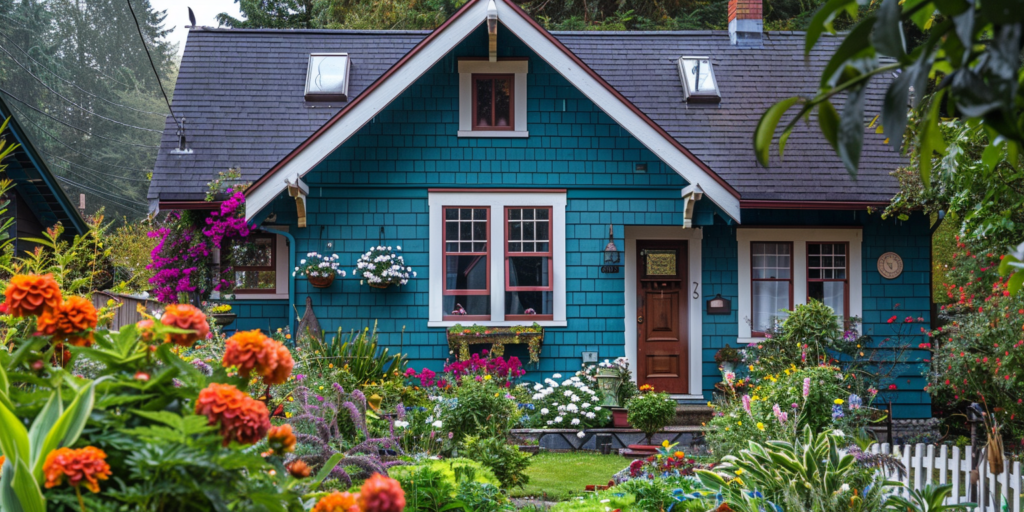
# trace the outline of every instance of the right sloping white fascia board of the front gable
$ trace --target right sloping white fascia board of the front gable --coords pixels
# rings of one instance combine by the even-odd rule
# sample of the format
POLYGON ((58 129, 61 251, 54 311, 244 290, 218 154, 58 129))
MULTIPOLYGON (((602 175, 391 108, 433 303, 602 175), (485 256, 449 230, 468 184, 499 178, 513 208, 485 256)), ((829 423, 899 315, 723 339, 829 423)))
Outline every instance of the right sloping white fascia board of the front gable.
POLYGON ((683 177, 687 183, 703 188, 713 203, 718 205, 733 220, 739 222, 739 199, 722 186, 714 177, 698 167, 688 156, 680 152, 665 136, 647 124, 629 105, 623 103, 594 77, 580 68, 558 46, 541 34, 526 19, 510 7, 507 0, 498 1, 498 19, 523 43, 530 47, 548 65, 583 92, 613 121, 630 132, 640 143, 656 155, 663 162, 683 177))

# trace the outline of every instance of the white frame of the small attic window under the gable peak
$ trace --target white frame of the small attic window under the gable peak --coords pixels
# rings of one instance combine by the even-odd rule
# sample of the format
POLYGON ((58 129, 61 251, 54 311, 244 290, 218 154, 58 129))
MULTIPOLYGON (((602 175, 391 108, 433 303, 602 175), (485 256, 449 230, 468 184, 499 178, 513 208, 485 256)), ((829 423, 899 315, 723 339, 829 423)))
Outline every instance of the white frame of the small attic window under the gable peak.
POLYGON ((460 137, 523 138, 529 136, 526 130, 526 72, 529 61, 524 59, 501 60, 459 60, 459 133, 460 137), (512 84, 512 122, 509 130, 473 129, 473 75, 514 75, 512 84))

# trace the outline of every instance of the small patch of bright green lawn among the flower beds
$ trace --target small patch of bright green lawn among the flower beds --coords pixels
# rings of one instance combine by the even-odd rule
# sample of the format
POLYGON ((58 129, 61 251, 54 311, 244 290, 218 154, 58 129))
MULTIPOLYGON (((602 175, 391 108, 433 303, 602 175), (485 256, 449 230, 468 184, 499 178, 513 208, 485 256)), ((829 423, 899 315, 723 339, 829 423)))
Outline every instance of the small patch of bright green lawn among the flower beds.
POLYGON ((617 455, 600 455, 587 452, 552 454, 542 452, 530 458, 529 483, 512 490, 512 496, 543 497, 564 500, 583 493, 587 485, 604 485, 611 475, 629 465, 630 461, 617 455))

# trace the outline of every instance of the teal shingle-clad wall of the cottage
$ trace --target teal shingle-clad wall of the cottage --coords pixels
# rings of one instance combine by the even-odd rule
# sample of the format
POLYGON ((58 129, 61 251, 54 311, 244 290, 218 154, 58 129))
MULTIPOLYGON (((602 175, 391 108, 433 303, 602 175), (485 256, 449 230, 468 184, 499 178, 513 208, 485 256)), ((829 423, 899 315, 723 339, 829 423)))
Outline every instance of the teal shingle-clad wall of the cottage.
MULTIPOLYGON (((481 28, 304 177, 310 187, 308 227, 297 226, 295 203, 287 196, 262 215, 273 214, 274 224, 288 226, 299 255, 337 253, 351 265, 377 245, 383 226, 385 245, 401 246, 418 278, 400 289, 383 291, 360 286, 351 276, 326 290, 297 279, 292 302, 301 315, 305 297, 311 297, 329 332, 377 323, 383 345, 392 350, 400 347, 417 368, 439 370, 451 354, 445 330, 427 327, 428 189, 564 188, 568 325, 547 329, 541 361, 528 378, 574 372, 583 351, 597 351, 602 359, 626 355, 626 274, 600 272, 608 224, 614 226, 621 249, 625 225, 682 226, 680 189, 687 183, 509 35, 503 36, 501 55, 529 59, 529 137, 458 137, 455 62, 460 56, 484 56, 486 47, 481 28), (646 172, 636 172, 637 163, 647 164, 646 172)), ((726 343, 735 346, 743 313, 736 311, 737 226, 708 201, 698 202, 696 210, 694 224, 703 231, 700 294, 705 298, 721 294, 733 304, 731 314, 705 311, 702 316, 702 393, 710 399, 720 380, 714 354, 726 343)), ((861 227, 863 332, 882 343, 897 334, 887 322, 893 315, 900 322, 905 316, 929 321, 930 233, 924 216, 899 221, 867 211, 743 210, 742 225, 861 227), (887 251, 897 252, 905 268, 897 279, 883 283, 874 261, 887 251)), ((351 274, 351 267, 346 270, 351 274)), ((285 300, 234 304, 239 329, 276 329, 296 314, 285 300)), ((921 343, 916 337, 904 341, 912 346, 921 343)), ((507 353, 524 356, 518 348, 509 347, 507 353)), ((924 357, 923 351, 911 353, 896 380, 897 391, 884 395, 899 406, 897 417, 931 416, 929 396, 923 391, 924 357)))

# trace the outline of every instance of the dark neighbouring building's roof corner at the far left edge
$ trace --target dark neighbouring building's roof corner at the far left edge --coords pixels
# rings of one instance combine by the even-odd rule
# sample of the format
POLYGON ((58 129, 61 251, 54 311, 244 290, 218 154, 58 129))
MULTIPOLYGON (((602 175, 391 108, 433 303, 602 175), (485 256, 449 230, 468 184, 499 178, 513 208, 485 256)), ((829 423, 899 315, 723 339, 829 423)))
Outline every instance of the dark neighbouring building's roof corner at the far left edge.
POLYGON ((10 200, 6 215, 14 218, 8 234, 15 239, 14 254, 24 255, 36 247, 36 244, 24 239, 40 239, 47 228, 57 222, 63 225, 69 237, 85 233, 88 226, 32 145, 25 129, 11 116, 11 110, 0 96, 0 124, 10 118, 7 131, 0 133, 0 138, 6 139, 8 144, 19 144, 14 153, 0 162, 0 165, 7 166, 7 172, 0 174, 0 179, 8 178, 14 182, 14 187, 5 198, 10 200))

